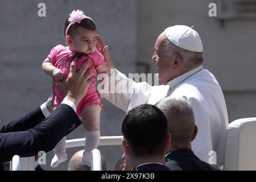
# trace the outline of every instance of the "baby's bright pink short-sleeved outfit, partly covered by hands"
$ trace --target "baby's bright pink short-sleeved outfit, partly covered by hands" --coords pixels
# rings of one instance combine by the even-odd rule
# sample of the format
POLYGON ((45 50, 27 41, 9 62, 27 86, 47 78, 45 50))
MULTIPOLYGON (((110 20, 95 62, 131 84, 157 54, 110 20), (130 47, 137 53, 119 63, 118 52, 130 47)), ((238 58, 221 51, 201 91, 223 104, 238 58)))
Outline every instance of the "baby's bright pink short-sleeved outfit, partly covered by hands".
MULTIPOLYGON (((51 59, 52 64, 61 69, 61 71, 64 73, 64 80, 68 78, 69 70, 71 61, 73 59, 73 56, 75 55, 75 51, 71 51, 68 47, 65 47, 63 45, 57 45, 56 47, 52 48, 51 52, 48 55, 48 58, 51 59)), ((106 64, 104 62, 104 58, 101 55, 100 52, 96 49, 93 53, 90 53, 87 56, 82 56, 81 58, 77 59, 77 65, 76 65, 76 72, 79 72, 80 68, 82 67, 82 64, 85 62, 87 58, 90 58, 90 63, 88 64, 87 69, 90 68, 90 66, 93 64, 94 69, 91 76, 96 76, 96 68, 98 68, 100 65, 106 64)), ((100 98, 98 98, 97 92, 96 92, 96 78, 94 78, 93 83, 89 86, 84 98, 82 98, 81 102, 77 106, 77 115, 79 118, 81 118, 81 110, 86 105, 93 105, 98 104, 102 108, 102 104, 100 102, 100 98)), ((55 92, 56 97, 54 104, 56 106, 60 105, 61 101, 63 101, 64 97, 61 93, 61 90, 55 85, 55 92)))

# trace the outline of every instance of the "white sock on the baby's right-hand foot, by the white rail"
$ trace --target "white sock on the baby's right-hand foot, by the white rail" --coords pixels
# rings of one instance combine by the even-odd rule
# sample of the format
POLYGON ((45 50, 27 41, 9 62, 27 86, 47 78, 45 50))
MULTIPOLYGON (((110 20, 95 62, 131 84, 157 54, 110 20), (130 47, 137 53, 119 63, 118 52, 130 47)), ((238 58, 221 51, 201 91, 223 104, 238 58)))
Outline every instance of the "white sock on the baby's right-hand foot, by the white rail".
POLYGON ((92 150, 98 147, 100 142, 100 131, 86 131, 85 134, 85 151, 82 155, 82 162, 90 166, 92 150))

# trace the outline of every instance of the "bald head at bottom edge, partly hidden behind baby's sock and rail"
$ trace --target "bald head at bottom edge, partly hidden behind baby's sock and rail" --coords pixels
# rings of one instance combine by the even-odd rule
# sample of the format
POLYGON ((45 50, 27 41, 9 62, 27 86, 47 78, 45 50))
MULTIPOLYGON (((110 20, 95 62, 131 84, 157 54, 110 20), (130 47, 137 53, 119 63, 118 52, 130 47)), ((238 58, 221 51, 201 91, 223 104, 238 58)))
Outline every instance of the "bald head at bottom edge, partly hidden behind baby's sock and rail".
MULTIPOLYGON (((68 171, 91 171, 90 166, 87 166, 82 162, 82 154, 84 150, 77 151, 68 163, 68 171)), ((106 161, 103 155, 101 155, 101 168, 102 171, 106 171, 106 161)))

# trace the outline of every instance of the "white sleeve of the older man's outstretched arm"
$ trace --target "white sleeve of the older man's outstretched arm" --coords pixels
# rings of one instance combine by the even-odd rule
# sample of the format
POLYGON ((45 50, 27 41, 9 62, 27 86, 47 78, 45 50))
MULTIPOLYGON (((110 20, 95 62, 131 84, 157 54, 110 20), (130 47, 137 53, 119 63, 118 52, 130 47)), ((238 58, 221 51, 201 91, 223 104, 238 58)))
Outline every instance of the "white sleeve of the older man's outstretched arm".
POLYGON ((127 111, 138 103, 139 105, 147 103, 149 95, 144 94, 147 90, 151 90, 151 86, 146 82, 137 84, 115 69, 110 76, 109 92, 105 94, 105 98, 123 111, 127 111))

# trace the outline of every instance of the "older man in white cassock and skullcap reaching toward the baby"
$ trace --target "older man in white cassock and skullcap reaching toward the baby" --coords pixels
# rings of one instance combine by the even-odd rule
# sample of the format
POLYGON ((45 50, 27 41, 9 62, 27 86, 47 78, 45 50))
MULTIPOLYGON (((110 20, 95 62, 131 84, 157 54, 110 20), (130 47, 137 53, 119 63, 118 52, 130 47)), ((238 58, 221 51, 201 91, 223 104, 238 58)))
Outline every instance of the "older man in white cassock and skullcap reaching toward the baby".
MULTIPOLYGON (((207 163, 223 165, 228 113, 221 87, 212 73, 204 69, 202 55, 201 38, 192 27, 168 27, 158 36, 152 56, 163 85, 136 83, 114 69, 111 76, 114 75, 115 85, 121 81, 129 92, 116 87, 116 92, 105 94, 105 98, 126 112, 141 104, 154 105, 164 97, 187 99, 198 127, 192 150, 207 163)), ((104 57, 109 68, 114 68, 106 47, 104 57)))

